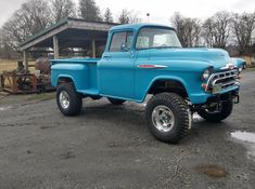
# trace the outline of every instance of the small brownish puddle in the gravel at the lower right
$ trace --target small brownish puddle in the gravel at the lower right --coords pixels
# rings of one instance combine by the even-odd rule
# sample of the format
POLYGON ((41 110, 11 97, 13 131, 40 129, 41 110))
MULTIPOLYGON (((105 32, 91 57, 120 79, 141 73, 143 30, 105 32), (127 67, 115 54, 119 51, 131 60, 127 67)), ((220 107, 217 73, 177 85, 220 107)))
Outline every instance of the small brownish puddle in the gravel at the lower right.
POLYGON ((209 164, 197 166, 197 170, 208 175, 209 177, 214 177, 214 178, 226 177, 228 174, 228 172, 225 168, 219 167, 217 165, 209 165, 209 164))

